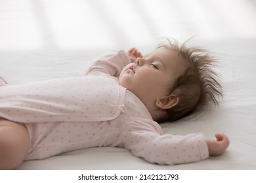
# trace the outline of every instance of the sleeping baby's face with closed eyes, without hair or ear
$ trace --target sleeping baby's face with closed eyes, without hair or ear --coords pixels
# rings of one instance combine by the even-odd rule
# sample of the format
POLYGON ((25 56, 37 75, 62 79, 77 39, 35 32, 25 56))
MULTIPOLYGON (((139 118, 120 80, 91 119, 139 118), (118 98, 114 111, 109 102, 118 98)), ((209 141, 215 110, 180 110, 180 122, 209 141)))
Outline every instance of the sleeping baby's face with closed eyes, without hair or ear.
POLYGON ((177 52, 158 48, 123 68, 119 84, 137 95, 142 102, 158 99, 171 93, 184 68, 184 61, 177 52))

